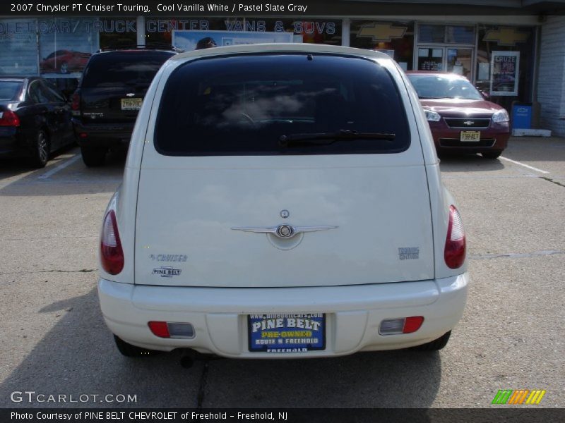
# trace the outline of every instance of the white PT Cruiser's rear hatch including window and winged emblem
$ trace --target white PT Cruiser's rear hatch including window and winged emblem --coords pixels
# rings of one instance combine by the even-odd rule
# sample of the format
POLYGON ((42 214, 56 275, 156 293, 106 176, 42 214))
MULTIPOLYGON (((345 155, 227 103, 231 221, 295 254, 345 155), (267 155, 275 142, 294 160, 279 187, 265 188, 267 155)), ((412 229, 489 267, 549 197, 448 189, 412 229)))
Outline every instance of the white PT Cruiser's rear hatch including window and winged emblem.
POLYGON ((434 277, 420 140, 383 67, 323 55, 206 59, 174 71, 160 104, 141 166, 135 283, 434 277))

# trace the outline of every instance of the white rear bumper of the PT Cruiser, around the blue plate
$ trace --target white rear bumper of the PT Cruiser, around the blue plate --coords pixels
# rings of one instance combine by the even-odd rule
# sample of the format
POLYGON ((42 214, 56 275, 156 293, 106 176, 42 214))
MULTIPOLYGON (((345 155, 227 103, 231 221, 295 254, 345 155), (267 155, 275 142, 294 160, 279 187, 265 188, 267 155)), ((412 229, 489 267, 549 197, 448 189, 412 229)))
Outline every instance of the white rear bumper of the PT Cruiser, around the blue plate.
POLYGON ((304 358, 362 350, 408 348, 439 338, 460 320, 469 277, 434 281, 308 288, 178 288, 100 279, 102 314, 112 333, 133 345, 170 351, 191 348, 234 358, 304 358), (326 349, 308 353, 250 353, 247 314, 326 313, 326 349), (380 335, 383 319, 423 316, 414 332, 380 335), (148 321, 194 325, 191 339, 159 338, 148 321))

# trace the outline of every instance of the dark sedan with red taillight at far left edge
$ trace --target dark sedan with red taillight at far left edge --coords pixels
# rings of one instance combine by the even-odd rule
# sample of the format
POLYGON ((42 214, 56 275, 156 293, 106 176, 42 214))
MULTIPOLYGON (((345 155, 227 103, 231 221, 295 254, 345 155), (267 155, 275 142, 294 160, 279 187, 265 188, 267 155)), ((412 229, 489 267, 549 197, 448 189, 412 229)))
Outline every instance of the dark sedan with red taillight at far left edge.
POLYGON ((74 142, 71 106, 42 78, 0 78, 0 157, 28 157, 42 168, 74 142))

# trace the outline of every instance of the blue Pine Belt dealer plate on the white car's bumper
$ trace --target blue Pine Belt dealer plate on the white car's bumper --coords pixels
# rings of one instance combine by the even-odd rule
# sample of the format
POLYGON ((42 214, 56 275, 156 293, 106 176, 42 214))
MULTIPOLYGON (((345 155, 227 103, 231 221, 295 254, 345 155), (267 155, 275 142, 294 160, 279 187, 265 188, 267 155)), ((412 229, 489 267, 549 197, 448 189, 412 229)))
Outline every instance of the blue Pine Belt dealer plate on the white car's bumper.
POLYGON ((326 348, 326 314, 249 314, 251 353, 307 353, 326 348))

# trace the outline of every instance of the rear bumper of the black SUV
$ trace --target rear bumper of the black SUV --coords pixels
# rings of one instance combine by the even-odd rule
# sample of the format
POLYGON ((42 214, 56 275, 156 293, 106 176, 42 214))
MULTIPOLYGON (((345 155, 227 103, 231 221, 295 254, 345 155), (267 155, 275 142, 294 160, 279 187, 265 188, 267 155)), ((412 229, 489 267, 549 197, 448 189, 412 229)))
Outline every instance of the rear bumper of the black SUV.
POLYGON ((76 142, 81 147, 124 147, 129 146, 135 121, 130 123, 88 123, 73 118, 76 142), (83 135, 84 134, 84 135, 83 135))

